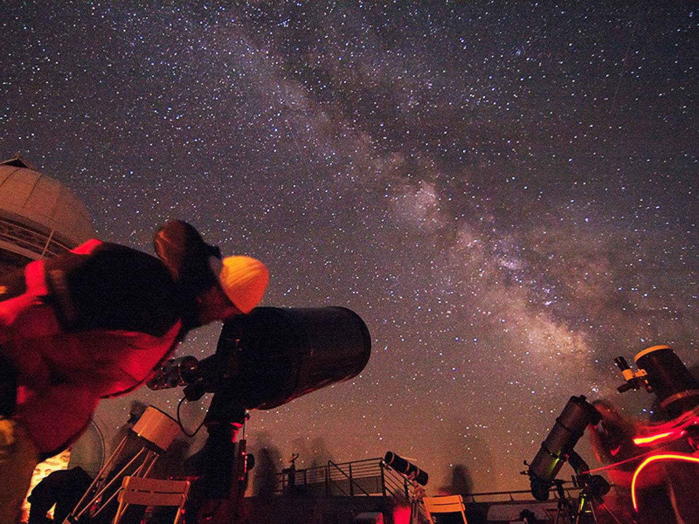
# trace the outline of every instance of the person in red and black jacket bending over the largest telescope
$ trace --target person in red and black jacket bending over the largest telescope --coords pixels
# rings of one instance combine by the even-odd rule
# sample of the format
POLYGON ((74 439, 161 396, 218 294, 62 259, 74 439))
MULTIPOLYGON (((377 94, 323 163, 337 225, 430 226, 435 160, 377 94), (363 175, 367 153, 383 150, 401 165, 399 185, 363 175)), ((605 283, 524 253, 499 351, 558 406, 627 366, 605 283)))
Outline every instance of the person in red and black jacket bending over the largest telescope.
POLYGON ((0 483, 0 523, 34 465, 74 442, 101 398, 138 388, 189 330, 250 312, 264 295, 263 263, 221 259, 186 222, 166 223, 154 247, 157 257, 89 240, 0 276, 0 367, 11 370, 0 478, 15 479, 0 483))

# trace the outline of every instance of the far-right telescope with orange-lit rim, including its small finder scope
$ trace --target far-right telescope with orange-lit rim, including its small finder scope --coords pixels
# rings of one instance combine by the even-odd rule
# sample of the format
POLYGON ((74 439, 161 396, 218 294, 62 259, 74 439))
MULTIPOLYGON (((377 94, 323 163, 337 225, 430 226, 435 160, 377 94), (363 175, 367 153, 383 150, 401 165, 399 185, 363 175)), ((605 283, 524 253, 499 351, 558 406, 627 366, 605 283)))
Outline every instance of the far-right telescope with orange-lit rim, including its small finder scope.
POLYGON ((633 372, 623 356, 614 358, 626 380, 617 388, 619 393, 643 386, 655 393, 660 407, 672 419, 699 406, 699 383, 670 346, 651 346, 640 351, 634 359, 633 372))

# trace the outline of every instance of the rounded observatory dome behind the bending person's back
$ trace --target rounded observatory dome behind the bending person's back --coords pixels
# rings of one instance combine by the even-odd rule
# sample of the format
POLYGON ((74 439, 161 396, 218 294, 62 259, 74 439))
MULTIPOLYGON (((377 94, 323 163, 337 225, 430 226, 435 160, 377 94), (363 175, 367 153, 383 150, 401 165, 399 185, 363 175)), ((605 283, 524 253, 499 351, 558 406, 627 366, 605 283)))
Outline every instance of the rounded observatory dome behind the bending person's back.
POLYGON ((68 188, 19 154, 0 162, 0 273, 93 237, 87 208, 68 188))

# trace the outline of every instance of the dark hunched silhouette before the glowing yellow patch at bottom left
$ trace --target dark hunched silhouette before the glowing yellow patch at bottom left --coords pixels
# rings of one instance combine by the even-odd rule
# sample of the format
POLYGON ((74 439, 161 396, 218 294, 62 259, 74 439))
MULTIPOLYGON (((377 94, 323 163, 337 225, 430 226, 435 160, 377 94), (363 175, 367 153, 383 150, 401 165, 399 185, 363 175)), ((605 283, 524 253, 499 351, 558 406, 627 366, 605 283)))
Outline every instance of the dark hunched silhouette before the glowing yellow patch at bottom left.
POLYGON ((90 483, 92 477, 82 470, 82 467, 58 470, 45 476, 29 495, 29 524, 62 523, 73 511, 75 504, 78 504, 90 483), (53 504, 56 504, 56 509, 52 521, 46 514, 53 504))

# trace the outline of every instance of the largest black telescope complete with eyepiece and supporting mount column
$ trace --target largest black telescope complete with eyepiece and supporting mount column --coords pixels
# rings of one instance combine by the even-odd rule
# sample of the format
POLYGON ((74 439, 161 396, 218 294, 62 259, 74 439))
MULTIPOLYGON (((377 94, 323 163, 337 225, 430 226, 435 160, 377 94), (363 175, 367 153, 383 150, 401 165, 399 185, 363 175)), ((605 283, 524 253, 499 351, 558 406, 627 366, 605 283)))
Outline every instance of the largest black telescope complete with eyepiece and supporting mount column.
POLYGON ((238 521, 244 468, 241 475, 243 453, 234 443, 247 410, 273 409, 356 377, 370 352, 366 324, 345 307, 257 307, 224 323, 215 354, 168 361, 149 388, 185 386, 187 400, 213 393, 203 421, 208 438, 196 453, 203 458, 202 495, 189 510, 196 522, 238 521))

